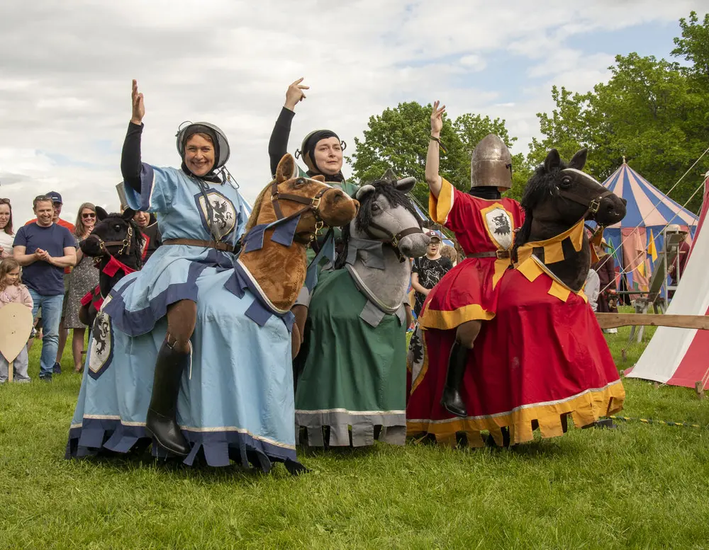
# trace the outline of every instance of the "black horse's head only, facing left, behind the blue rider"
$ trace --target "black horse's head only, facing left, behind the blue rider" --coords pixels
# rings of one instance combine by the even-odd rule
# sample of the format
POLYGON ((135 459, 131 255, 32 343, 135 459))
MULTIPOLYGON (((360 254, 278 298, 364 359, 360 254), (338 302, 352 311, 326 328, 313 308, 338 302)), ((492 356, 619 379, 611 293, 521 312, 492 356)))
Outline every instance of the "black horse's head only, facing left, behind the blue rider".
POLYGON ((94 231, 81 243, 86 256, 109 259, 116 258, 128 267, 139 270, 143 267, 143 234, 138 224, 133 222, 135 210, 125 210, 123 214, 96 207, 97 223, 94 231))

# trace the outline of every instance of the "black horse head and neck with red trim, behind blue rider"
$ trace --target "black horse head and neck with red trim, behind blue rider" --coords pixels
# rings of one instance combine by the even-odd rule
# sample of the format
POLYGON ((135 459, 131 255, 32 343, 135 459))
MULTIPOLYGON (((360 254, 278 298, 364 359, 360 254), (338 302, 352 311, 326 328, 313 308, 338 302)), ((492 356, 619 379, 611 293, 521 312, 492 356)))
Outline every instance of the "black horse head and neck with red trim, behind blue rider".
POLYGON ((93 325, 96 311, 114 285, 125 275, 143 267, 143 246, 145 241, 138 224, 133 222, 134 210, 123 214, 96 207, 96 227, 79 245, 86 256, 91 256, 99 268, 99 292, 94 299, 79 309, 79 319, 86 325, 93 325), (92 306, 93 304, 93 306, 92 306))

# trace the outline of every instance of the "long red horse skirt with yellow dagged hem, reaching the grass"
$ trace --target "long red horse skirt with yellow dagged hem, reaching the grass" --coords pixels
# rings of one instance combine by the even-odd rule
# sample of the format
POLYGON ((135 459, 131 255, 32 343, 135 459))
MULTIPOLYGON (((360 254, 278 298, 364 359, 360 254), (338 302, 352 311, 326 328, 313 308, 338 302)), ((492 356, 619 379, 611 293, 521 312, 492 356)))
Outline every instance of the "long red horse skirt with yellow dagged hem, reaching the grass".
POLYGON ((563 301, 549 294, 551 287, 546 274, 533 281, 518 270, 504 275, 496 317, 484 323, 469 354, 467 418, 440 406, 455 331, 421 331, 423 350, 409 353, 409 435, 430 433, 452 444, 456 432, 466 432, 469 445, 479 446, 481 430, 501 443, 508 427, 514 444, 532 440, 537 425, 542 437, 562 435, 567 415, 583 426, 623 408, 623 384, 591 307, 573 292, 563 301))

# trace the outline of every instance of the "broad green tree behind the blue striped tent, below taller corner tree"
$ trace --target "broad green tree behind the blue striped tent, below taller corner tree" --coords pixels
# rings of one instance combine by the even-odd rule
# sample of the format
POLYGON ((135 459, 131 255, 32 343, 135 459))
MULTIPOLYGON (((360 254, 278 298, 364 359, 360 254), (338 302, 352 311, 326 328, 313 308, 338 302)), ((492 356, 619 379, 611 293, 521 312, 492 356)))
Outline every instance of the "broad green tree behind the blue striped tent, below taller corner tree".
MULTIPOLYGON (((603 181, 628 164, 667 192, 700 157, 708 143, 709 96, 693 86, 679 64, 637 53, 617 56, 607 84, 593 92, 571 93, 552 88, 556 108, 539 113, 543 138, 532 140, 527 160, 538 164, 556 147, 562 158, 588 147, 588 171, 603 181)), ((671 193, 683 204, 709 166, 704 157, 671 193)), ((698 210, 701 196, 688 207, 698 210)))

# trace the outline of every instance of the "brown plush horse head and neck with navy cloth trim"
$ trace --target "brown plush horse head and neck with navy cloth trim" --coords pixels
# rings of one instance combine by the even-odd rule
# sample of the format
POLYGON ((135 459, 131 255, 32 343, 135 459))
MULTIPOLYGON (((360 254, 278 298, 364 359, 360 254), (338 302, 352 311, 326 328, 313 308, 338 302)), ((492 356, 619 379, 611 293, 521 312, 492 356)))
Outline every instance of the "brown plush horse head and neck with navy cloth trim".
POLYGON ((306 247, 325 227, 349 223, 358 206, 324 176, 299 176, 295 159, 286 154, 257 197, 239 261, 277 309, 290 309, 305 282, 306 247))

